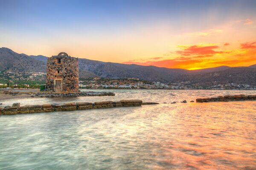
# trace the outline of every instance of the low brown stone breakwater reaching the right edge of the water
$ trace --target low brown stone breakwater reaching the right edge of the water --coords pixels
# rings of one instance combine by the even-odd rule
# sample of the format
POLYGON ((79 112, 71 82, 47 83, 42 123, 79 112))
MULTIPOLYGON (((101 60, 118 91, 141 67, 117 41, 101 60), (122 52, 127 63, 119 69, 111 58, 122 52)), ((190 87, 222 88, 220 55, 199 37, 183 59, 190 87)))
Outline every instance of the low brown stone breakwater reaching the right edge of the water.
POLYGON ((227 96, 218 96, 212 98, 196 99, 196 102, 229 102, 229 101, 244 101, 244 100, 256 100, 256 95, 227 95, 227 96))

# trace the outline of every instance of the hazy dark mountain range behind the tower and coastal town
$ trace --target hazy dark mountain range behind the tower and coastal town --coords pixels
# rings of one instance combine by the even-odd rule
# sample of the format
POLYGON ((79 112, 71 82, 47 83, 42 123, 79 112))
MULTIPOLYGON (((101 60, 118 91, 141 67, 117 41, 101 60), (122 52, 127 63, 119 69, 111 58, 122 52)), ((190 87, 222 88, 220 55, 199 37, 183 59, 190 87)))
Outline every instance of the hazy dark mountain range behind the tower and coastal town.
MULTIPOLYGON (((9 48, 0 48, 0 71, 11 71, 16 74, 46 72, 46 56, 18 54, 9 48)), ((148 81, 226 81, 247 82, 256 84, 256 65, 249 67, 220 66, 199 70, 180 68, 160 68, 135 64, 101 62, 79 58, 80 77, 104 77, 111 79, 140 78, 148 81), (239 76, 238 76, 239 75, 239 76)))

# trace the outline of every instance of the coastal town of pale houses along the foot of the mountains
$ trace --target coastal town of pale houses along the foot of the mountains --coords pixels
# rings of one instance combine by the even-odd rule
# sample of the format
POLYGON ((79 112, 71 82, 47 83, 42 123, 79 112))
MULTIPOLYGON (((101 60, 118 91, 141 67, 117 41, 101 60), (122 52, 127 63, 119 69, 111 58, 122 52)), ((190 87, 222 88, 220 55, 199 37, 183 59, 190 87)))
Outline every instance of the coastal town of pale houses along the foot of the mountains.
MULTIPOLYGON (((46 73, 15 75, 0 73, 0 88, 7 88, 8 79, 10 88, 40 88, 46 83, 46 73)), ((256 85, 237 84, 230 82, 150 82, 138 78, 108 79, 101 77, 80 78, 80 89, 170 89, 170 90, 256 90, 256 85)))

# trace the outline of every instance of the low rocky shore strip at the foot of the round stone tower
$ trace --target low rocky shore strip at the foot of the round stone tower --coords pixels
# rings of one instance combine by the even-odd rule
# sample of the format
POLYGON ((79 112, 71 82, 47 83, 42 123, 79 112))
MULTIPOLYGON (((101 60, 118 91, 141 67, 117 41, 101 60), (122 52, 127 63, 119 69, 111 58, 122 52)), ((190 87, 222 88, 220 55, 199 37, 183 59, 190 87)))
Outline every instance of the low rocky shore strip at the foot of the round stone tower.
POLYGON ((55 93, 55 92, 19 92, 19 91, 5 91, 5 94, 10 95, 20 95, 20 94, 28 94, 31 95, 31 97, 79 97, 79 96, 115 96, 112 92, 94 92, 94 91, 88 91, 88 92, 61 92, 61 93, 55 93))

